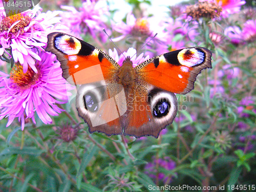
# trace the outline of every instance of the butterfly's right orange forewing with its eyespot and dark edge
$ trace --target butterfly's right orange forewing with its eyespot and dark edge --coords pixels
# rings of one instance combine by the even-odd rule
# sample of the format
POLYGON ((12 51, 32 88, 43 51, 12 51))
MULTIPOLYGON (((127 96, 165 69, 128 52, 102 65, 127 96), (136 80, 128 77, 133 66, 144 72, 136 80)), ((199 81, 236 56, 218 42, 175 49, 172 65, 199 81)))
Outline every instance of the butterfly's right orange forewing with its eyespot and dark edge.
POLYGON ((148 59, 135 70, 140 78, 163 90, 186 94, 194 89, 197 75, 211 68, 211 52, 192 47, 148 59))

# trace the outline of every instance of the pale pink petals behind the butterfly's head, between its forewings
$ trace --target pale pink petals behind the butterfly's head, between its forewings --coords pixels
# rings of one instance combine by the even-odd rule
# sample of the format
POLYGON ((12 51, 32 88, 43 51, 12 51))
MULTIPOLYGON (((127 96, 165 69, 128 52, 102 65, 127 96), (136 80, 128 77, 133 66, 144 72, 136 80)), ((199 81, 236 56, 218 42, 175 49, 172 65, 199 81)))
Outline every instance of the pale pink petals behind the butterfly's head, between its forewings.
POLYGON ((131 57, 131 61, 133 62, 133 67, 136 67, 137 65, 139 65, 141 62, 147 60, 150 58, 149 55, 147 55, 146 57, 143 57, 143 53, 141 53, 138 57, 137 57, 137 51, 134 48, 129 48, 127 50, 127 52, 123 52, 120 57, 118 56, 118 53, 116 51, 116 49, 114 48, 114 51, 112 51, 111 49, 109 50, 109 55, 115 59, 115 61, 122 66, 123 61, 126 57, 130 56, 131 57))

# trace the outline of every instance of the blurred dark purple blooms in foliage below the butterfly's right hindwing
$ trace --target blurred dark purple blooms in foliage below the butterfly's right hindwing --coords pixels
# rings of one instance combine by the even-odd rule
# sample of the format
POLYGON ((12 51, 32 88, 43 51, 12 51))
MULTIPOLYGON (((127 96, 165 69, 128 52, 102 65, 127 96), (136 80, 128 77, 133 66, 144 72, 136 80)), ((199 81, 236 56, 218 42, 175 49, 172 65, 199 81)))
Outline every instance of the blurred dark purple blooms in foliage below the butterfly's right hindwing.
POLYGON ((163 173, 157 172, 157 164, 158 167, 162 167, 167 170, 173 170, 176 167, 176 163, 169 157, 165 157, 164 159, 154 159, 153 163, 147 163, 144 167, 146 170, 145 174, 153 179, 157 179, 158 177, 158 180, 163 180, 163 182, 172 181, 172 176, 165 176, 163 173))

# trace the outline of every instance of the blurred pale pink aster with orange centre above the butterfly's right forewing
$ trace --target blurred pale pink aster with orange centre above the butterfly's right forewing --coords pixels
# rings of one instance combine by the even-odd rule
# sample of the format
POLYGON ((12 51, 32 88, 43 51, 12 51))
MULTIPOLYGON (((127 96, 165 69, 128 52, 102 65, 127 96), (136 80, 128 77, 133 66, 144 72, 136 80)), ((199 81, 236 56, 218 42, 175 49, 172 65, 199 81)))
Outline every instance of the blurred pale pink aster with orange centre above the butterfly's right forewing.
POLYGON ((112 22, 112 28, 122 35, 114 38, 114 41, 121 40, 123 38, 134 38, 142 43, 149 40, 156 33, 157 36, 153 41, 166 41, 168 33, 164 30, 165 25, 161 20, 156 17, 143 17, 135 18, 132 13, 127 14, 126 24, 122 22, 112 22))

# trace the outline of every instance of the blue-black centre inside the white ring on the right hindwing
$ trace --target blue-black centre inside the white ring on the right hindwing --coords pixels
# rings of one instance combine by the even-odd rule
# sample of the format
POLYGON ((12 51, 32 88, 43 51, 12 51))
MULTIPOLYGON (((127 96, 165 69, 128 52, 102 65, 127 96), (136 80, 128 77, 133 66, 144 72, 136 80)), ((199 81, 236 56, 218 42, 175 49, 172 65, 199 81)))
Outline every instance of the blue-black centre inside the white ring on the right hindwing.
POLYGON ((157 118, 161 118, 166 116, 169 113, 170 110, 170 103, 168 99, 163 98, 159 101, 154 106, 153 109, 153 115, 157 118))

